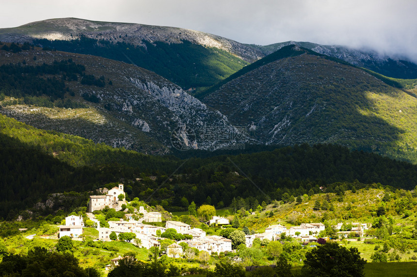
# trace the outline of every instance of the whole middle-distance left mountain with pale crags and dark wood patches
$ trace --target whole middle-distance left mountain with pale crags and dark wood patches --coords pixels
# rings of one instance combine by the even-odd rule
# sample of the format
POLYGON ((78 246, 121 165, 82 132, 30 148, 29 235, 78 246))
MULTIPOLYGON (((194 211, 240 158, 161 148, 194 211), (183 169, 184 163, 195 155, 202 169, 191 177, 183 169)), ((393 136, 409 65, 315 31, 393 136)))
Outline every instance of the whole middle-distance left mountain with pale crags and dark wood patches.
MULTIPOLYGON (((0 50, 0 113, 8 117, 148 154, 169 152, 172 131, 184 124, 193 130, 230 127, 222 114, 143 68, 29 48, 16 53, 0 50), (69 70, 78 67, 83 70, 69 70)), ((198 145, 205 147, 211 145, 198 145)))

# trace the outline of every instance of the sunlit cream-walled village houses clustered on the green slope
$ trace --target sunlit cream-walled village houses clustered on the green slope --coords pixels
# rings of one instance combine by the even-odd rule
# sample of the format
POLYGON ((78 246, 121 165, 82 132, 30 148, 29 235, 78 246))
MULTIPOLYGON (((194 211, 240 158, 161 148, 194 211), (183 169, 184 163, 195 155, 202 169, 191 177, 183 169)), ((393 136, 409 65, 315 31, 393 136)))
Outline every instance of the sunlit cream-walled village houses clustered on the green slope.
MULTIPOLYGON (((190 248, 196 248, 199 251, 206 251, 210 255, 214 252, 231 252, 232 240, 219 235, 206 235, 206 232, 200 228, 192 228, 191 225, 180 222, 167 220, 165 227, 155 226, 149 223, 162 222, 162 214, 160 212, 148 212, 144 206, 140 206, 139 210, 135 209, 135 213, 125 213, 124 219, 117 221, 109 220, 109 227, 101 227, 100 221, 97 220, 93 214, 94 211, 109 207, 116 211, 122 210, 122 205, 127 204, 125 201, 125 192, 123 184, 112 189, 100 190, 104 195, 90 196, 88 213, 89 219, 96 223, 98 230, 98 240, 111 241, 111 234, 114 233, 120 237, 122 233, 131 233, 134 239, 130 243, 138 247, 151 248, 160 247, 161 234, 167 229, 174 229, 176 233, 188 235, 188 239, 179 240, 164 249, 164 253, 170 258, 182 258, 183 247, 179 244, 184 242, 190 248), (148 223, 148 224, 146 224, 148 223)), ((209 221, 204 222, 209 226, 217 226, 223 228, 230 227, 229 219, 225 217, 212 216, 209 221)), ((364 230, 370 226, 366 223, 351 223, 349 231, 343 231, 343 223, 338 223, 334 227, 338 230, 337 235, 340 237, 361 237, 364 235, 364 230)), ((65 218, 65 225, 59 226, 59 237, 69 236, 72 239, 79 239, 83 233, 84 222, 81 216, 71 215, 65 218)), ((251 248, 256 239, 275 241, 279 240, 282 235, 290 236, 298 239, 301 242, 316 242, 319 238, 318 234, 324 231, 325 225, 322 223, 302 223, 300 226, 290 226, 287 228, 281 224, 273 224, 265 228, 264 233, 253 233, 245 235, 245 245, 251 248)), ((113 238, 114 239, 114 238, 113 238)), ((117 262, 122 257, 117 257, 111 261, 111 264, 106 266, 109 270, 112 266, 117 265, 117 262)))

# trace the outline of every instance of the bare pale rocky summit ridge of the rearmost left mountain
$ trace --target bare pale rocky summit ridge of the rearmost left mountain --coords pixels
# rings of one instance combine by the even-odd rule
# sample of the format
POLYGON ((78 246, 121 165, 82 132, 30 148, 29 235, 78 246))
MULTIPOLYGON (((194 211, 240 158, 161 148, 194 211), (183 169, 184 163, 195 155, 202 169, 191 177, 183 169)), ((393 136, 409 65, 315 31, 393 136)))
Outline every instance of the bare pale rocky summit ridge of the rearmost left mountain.
MULTIPOLYGON (((29 32, 29 34, 33 37, 46 38, 49 40, 71 40, 80 37, 80 34, 82 33, 84 36, 90 38, 102 38, 107 40, 112 39, 114 42, 128 42, 142 46, 145 46, 142 42, 143 40, 151 43, 154 41, 181 43, 182 40, 189 40, 196 44, 207 45, 209 47, 216 47, 229 51, 246 61, 254 61, 260 58, 257 54, 257 50, 246 46, 245 44, 240 44, 233 40, 202 31, 176 27, 152 26, 137 23, 91 21, 67 17, 46 19, 24 24, 15 28, 0 29, 0 39, 3 40, 3 36, 6 38, 5 34, 9 34, 9 37, 7 38, 12 39, 13 32, 20 34, 29 32), (45 29, 50 30, 46 31, 45 29), (71 33, 72 31, 75 31, 76 33, 71 33), (118 36, 113 35, 113 31, 117 31, 118 36), (119 37, 119 35, 121 37, 119 37)), ((17 38, 18 37, 15 39, 17 38)), ((18 41, 15 40, 15 42, 18 41)), ((21 42, 23 43, 24 41, 21 42)))

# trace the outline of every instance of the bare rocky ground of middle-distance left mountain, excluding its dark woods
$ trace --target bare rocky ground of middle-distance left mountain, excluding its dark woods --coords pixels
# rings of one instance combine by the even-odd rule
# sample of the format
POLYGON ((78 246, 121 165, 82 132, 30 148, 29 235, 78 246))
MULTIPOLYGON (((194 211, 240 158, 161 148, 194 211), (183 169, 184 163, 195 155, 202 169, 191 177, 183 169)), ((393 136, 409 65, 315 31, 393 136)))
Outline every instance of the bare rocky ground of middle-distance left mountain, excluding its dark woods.
POLYGON ((165 149, 174 146, 214 150, 246 139, 222 140, 213 136, 214 127, 229 133, 238 130, 219 111, 207 107, 161 76, 134 65, 95 56, 36 49, 19 53, 1 51, 1 54, 8 60, 25 59, 27 64, 72 58, 75 63, 86 67, 87 74, 112 80, 112 85, 105 87, 82 85, 80 80, 67 83, 75 92, 76 101, 85 102, 80 97, 82 94, 100 99, 99 103, 86 102, 90 108, 8 105, 0 109, 2 114, 34 127, 80 135, 97 143, 105 142, 145 153, 164 152, 161 146, 165 149), (37 57, 36 60, 33 56, 37 57), (211 136, 208 138, 208 135, 211 136))

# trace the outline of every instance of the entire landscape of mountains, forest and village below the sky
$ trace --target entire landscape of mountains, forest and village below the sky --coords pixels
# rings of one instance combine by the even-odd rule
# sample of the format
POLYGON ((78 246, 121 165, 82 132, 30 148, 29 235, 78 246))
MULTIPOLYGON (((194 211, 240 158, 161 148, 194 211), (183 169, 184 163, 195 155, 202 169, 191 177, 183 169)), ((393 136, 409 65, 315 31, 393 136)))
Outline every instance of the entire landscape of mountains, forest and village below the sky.
POLYGON ((0 40, 0 275, 414 273, 400 53, 77 18, 0 40))

